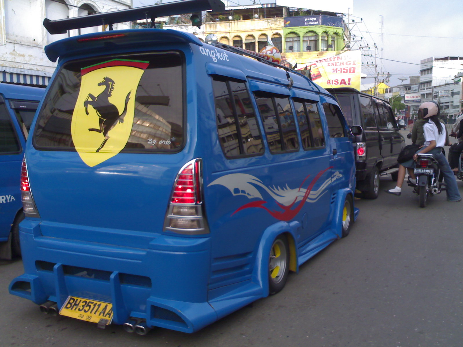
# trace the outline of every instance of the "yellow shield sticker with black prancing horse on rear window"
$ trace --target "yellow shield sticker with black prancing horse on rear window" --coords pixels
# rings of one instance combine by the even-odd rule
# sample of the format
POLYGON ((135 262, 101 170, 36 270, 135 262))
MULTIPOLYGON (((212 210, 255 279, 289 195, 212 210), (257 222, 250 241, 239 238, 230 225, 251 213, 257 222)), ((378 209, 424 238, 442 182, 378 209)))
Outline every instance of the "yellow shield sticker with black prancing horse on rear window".
POLYGON ((125 147, 132 130, 135 93, 148 65, 114 59, 81 69, 71 135, 88 166, 108 160, 125 147))

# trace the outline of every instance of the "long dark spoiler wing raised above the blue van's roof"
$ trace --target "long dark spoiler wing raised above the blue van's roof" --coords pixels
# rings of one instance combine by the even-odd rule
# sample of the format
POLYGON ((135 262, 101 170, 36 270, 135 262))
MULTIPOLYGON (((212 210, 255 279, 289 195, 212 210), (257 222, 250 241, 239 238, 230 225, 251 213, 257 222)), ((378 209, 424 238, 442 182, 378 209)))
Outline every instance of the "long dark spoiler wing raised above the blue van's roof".
POLYGON ((109 30, 113 30, 113 24, 115 23, 131 22, 138 19, 148 20, 148 18, 151 19, 151 26, 154 26, 154 19, 158 17, 211 9, 214 12, 225 11, 225 4, 220 0, 181 0, 67 19, 50 20, 45 18, 44 27, 50 34, 65 34, 71 29, 88 28, 97 25, 109 25, 109 30))

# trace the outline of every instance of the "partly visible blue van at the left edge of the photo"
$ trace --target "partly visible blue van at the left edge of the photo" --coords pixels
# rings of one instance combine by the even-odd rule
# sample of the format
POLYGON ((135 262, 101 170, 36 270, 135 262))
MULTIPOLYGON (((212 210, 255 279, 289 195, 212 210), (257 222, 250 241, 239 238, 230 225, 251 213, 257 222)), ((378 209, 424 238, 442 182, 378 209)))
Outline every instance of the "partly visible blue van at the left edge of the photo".
POLYGON ((0 83, 0 259, 20 255, 19 177, 25 141, 44 88, 0 83))

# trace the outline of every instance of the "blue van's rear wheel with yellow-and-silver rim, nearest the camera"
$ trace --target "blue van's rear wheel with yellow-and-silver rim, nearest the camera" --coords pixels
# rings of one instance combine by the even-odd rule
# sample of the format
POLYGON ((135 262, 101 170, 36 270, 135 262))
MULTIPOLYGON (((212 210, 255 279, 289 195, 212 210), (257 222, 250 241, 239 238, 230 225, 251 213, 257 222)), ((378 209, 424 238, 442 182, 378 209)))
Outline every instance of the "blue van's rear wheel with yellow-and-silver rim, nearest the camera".
POLYGON ((278 236, 269 254, 269 292, 276 294, 283 289, 289 272, 289 246, 285 235, 278 236))

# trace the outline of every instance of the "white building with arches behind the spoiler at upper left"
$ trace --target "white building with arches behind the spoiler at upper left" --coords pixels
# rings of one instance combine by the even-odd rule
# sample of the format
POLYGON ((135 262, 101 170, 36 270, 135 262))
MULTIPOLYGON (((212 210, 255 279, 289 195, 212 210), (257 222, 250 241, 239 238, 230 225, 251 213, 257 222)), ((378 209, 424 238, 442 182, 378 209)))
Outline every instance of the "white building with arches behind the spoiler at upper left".
MULTIPOLYGON (((44 47, 56 40, 102 26, 50 35, 42 25, 50 20, 86 16, 131 8, 132 0, 0 0, 0 82, 45 86, 56 63, 45 56, 44 47)), ((130 23, 114 25, 130 29, 130 23)))

